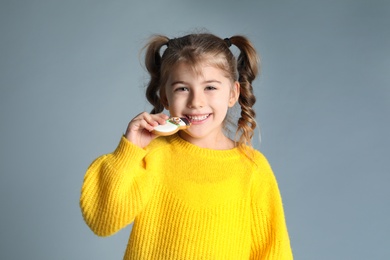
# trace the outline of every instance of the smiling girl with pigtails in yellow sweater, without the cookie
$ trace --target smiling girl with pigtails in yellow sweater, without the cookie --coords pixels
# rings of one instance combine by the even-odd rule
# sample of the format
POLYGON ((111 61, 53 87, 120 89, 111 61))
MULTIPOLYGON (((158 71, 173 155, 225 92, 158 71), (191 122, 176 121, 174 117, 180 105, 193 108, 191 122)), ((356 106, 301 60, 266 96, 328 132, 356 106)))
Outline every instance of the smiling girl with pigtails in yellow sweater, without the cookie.
POLYGON ((109 236, 134 222, 125 259, 292 259, 277 182, 250 146, 252 44, 243 36, 155 36, 146 68, 154 108, 131 120, 116 150, 87 170, 80 206, 88 226, 109 236), (236 102, 232 140, 225 130, 236 102), (158 137, 164 108, 191 126, 158 137))

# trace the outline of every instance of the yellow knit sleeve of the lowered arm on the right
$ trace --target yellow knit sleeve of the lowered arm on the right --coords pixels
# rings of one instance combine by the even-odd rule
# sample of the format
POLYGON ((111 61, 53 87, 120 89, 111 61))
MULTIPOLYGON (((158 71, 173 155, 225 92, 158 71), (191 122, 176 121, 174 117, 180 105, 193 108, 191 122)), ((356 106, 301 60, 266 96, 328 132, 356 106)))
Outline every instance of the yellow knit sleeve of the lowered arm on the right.
POLYGON ((263 157, 252 182, 251 259, 293 259, 282 198, 268 161, 263 157))

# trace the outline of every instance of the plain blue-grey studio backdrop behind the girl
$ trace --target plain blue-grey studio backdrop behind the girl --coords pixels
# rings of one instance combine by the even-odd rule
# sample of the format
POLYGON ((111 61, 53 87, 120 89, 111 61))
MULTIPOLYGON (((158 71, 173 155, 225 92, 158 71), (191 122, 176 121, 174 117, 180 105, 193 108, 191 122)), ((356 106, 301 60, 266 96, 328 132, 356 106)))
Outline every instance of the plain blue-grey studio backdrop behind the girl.
POLYGON ((196 28, 253 40, 262 143, 295 259, 390 256, 390 1, 0 2, 0 258, 122 259, 84 172, 149 110, 139 51, 196 28))

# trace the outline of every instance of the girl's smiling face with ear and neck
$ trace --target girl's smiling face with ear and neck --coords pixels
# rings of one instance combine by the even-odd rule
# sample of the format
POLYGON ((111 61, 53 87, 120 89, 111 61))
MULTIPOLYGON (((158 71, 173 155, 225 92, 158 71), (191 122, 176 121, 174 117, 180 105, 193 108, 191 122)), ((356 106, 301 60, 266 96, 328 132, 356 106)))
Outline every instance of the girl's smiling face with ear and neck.
POLYGON ((219 68, 205 64, 198 73, 184 62, 176 65, 165 86, 166 109, 192 124, 180 136, 204 148, 231 148, 233 142, 223 133, 223 121, 239 97, 239 87, 219 68))

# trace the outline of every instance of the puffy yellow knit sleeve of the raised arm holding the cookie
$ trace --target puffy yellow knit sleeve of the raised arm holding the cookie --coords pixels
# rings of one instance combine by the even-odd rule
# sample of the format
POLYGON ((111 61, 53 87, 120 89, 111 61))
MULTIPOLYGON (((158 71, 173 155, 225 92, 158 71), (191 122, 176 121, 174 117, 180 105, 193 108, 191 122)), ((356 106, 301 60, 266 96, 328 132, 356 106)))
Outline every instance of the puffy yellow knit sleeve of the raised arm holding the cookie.
POLYGON ((143 209, 153 177, 146 174, 146 151, 122 137, 116 150, 89 166, 81 189, 85 222, 99 236, 124 228, 143 209))

